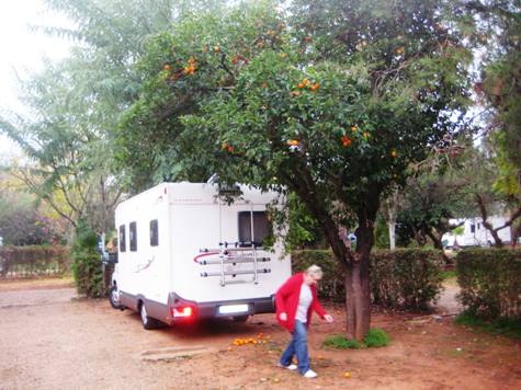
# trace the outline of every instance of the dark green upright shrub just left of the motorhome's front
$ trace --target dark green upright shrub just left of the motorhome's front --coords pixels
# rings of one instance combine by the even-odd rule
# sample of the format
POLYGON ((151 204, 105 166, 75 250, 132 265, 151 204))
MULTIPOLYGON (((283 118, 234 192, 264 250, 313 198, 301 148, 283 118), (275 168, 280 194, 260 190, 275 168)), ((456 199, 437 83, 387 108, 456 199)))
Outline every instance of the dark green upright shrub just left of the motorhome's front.
POLYGON ((71 249, 71 268, 78 292, 91 298, 106 295, 101 257, 97 246, 97 234, 84 221, 80 221, 71 249))

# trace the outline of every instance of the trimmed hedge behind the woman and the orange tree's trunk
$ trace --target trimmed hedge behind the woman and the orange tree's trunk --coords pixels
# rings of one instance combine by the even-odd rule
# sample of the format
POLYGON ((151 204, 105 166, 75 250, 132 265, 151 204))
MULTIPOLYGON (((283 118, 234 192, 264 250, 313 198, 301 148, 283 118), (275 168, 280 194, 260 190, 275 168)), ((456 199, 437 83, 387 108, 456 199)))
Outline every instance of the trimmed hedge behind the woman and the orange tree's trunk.
MULTIPOLYGON (((343 269, 330 251, 295 251, 293 269, 320 265, 324 278, 318 294, 333 301, 346 300, 343 269)), ((374 251, 370 257, 373 302, 393 309, 422 310, 441 290, 443 257, 440 251, 399 249, 374 251)))

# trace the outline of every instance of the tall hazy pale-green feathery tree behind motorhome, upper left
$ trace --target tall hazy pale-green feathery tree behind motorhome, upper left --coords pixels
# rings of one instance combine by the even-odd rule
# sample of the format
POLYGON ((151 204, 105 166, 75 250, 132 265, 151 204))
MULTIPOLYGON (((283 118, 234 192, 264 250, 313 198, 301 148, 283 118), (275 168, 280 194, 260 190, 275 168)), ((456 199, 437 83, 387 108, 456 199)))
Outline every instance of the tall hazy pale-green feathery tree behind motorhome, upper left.
MULTIPOLYGON (((134 164, 115 159, 124 152, 115 142, 120 116, 137 97, 140 83, 131 66, 150 35, 206 3, 46 0, 73 24, 39 30, 66 36, 75 46, 69 58, 46 62, 42 72, 22 82, 30 114, 0 117, 0 131, 29 157, 18 176, 72 226, 86 218, 98 233, 107 231, 122 193, 145 185, 133 173, 134 164)), ((149 183, 145 157, 137 160, 143 182, 149 183)))

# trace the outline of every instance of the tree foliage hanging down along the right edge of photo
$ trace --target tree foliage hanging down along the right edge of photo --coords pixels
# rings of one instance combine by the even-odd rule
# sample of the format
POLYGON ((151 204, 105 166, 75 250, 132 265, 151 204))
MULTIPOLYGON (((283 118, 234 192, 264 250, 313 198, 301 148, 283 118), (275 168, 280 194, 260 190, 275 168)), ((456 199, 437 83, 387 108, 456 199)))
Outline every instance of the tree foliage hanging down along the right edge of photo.
MULTIPOLYGON (((466 3, 474 21, 476 46, 480 55, 480 78, 474 90, 486 110, 484 134, 494 147, 496 195, 500 194, 512 229, 512 244, 521 236, 521 2, 518 0, 473 0, 466 3)), ((476 196, 479 211, 487 219, 487 198, 476 196)), ((501 245, 496 229, 485 223, 501 245)))

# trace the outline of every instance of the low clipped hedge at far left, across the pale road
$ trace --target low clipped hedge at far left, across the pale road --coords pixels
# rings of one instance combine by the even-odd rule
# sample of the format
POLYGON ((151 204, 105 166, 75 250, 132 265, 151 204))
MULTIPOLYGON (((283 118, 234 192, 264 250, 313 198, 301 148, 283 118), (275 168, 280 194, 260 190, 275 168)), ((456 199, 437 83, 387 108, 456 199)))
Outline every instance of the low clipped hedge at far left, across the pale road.
POLYGON ((67 246, 1 246, 0 279, 61 276, 70 272, 67 246))

